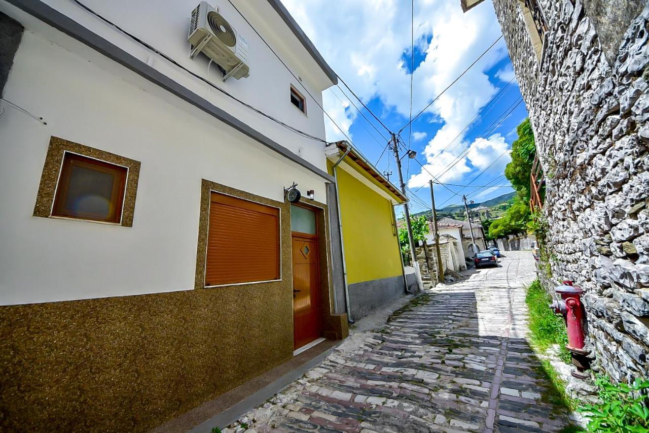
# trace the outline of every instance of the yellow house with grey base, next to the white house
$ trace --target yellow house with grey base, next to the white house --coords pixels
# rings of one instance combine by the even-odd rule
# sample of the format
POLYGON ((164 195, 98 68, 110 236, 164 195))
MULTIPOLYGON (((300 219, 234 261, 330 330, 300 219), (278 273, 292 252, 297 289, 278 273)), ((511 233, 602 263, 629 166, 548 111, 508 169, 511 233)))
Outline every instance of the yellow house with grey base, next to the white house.
MULTIPOLYGON (((330 144, 326 155, 339 194, 340 220, 330 222, 332 239, 341 233, 344 251, 334 255, 343 267, 339 278, 334 263, 334 282, 347 292, 336 302, 347 301, 347 314, 357 320, 406 293, 394 206, 407 199, 347 141, 330 144)), ((336 205, 335 198, 329 202, 336 205)))

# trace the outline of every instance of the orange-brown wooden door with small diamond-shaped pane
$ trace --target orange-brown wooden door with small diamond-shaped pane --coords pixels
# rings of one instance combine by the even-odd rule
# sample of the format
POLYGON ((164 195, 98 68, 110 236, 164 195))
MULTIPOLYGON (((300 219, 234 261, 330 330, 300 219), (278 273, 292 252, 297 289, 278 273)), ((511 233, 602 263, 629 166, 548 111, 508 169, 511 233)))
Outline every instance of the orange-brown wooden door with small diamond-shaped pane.
POLYGON ((317 237, 293 233, 293 346, 321 337, 317 237))

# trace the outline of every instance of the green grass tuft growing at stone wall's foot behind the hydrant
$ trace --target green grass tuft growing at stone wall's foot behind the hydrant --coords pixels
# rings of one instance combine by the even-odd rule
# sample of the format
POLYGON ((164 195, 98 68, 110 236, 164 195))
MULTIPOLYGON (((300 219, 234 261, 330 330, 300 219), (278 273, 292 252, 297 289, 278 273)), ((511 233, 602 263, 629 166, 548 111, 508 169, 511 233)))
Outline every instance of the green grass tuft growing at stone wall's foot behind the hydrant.
POLYGON ((563 318, 554 314, 548 304, 552 297, 546 293, 539 280, 535 280, 527 288, 525 302, 530 310, 530 339, 532 344, 541 350, 547 350, 553 345, 559 345, 559 358, 570 363, 570 352, 565 348, 568 344, 568 334, 563 318))

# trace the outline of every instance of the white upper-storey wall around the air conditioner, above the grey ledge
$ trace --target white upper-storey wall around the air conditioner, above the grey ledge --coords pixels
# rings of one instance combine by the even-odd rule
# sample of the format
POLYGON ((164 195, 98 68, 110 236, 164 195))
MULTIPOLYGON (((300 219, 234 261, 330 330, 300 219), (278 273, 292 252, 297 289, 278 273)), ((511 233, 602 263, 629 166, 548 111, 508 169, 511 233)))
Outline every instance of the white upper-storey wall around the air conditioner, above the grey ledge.
MULTIPOLYGON (((326 171, 323 143, 299 137, 294 132, 288 131, 288 129, 272 120, 251 111, 218 90, 210 89, 210 86, 206 83, 192 77, 160 55, 153 53, 150 49, 129 38, 129 36, 104 23, 90 12, 80 8, 73 1, 42 1, 90 29, 93 33, 124 49, 130 55, 143 62, 148 62, 156 70, 177 81, 177 83, 214 103, 217 107, 224 109, 245 124, 251 125, 260 133, 272 138, 293 151, 293 153, 300 155, 300 157, 326 171)), ((199 0, 81 1, 104 18, 156 47, 156 49, 176 60, 191 72, 209 79, 215 85, 232 94, 232 96, 301 131, 315 137, 324 138, 323 112, 306 94, 302 85, 322 105, 321 92, 332 83, 323 81, 323 72, 315 66, 312 57, 308 55, 306 49, 301 46, 297 38, 293 36, 266 0, 247 0, 245 5, 240 2, 237 3, 239 3, 239 10, 247 14, 246 18, 262 34, 264 40, 271 44, 276 53, 282 57, 291 72, 302 79, 299 83, 227 0, 210 0, 208 3, 219 7, 220 13, 236 31, 247 39, 249 44, 247 63, 250 66, 251 75, 248 78, 239 80, 230 78, 225 83, 221 81, 221 72, 214 63, 210 66, 208 75, 209 59, 207 57, 199 54, 195 59, 189 58, 190 45, 187 42, 187 36, 190 16, 193 8, 199 4, 199 0), (268 23, 272 23, 272 28, 269 28, 268 23), (291 104, 289 98, 291 84, 306 97, 308 115, 305 115, 291 104)), ((18 8, 0 0, 0 10, 23 23, 28 29, 37 31, 46 38, 69 49, 70 44, 67 36, 62 37, 58 32, 29 17, 18 8)), ((76 48, 75 52, 77 52, 76 48)))

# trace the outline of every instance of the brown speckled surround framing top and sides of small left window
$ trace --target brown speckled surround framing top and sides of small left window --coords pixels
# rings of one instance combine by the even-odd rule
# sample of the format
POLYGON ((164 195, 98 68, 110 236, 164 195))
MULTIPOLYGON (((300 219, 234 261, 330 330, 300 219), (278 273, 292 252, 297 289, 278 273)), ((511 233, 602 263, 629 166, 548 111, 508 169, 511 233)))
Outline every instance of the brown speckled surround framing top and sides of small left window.
POLYGON ((121 225, 132 227, 133 214, 135 211, 135 198, 138 192, 138 178, 140 177, 140 163, 133 159, 125 158, 103 150, 90 148, 83 144, 67 141, 58 137, 51 137, 49 140, 49 148, 47 148, 47 156, 45 156, 43 174, 41 175, 38 194, 36 195, 34 217, 49 218, 51 215, 52 203, 54 202, 54 194, 56 192, 56 183, 58 182, 58 174, 61 170, 61 162, 63 161, 63 155, 66 150, 73 153, 79 153, 79 155, 86 157, 100 159, 106 163, 119 164, 129 168, 121 225))

